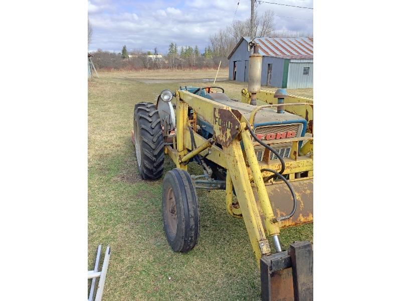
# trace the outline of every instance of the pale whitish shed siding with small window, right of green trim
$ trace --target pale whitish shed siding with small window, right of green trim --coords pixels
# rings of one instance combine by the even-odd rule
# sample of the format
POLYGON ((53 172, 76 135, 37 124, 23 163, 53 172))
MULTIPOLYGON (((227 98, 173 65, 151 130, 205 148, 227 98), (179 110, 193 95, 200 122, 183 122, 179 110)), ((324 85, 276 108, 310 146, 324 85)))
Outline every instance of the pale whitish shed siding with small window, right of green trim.
POLYGON ((291 60, 288 68, 288 89, 313 88, 313 61, 302 60, 303 62, 293 62, 291 60), (309 75, 303 75, 304 67, 309 67, 309 75))

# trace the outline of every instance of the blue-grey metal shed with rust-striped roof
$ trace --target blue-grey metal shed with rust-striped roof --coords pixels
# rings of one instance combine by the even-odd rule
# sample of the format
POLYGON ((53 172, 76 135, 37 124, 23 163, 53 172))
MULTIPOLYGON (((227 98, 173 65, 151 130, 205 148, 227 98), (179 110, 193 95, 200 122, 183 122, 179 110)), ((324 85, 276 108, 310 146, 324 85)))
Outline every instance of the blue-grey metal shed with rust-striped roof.
MULTIPOLYGON (((248 81, 250 37, 243 37, 229 55, 229 80, 248 81)), ((255 38, 262 59, 261 85, 313 88, 313 38, 255 38)))

